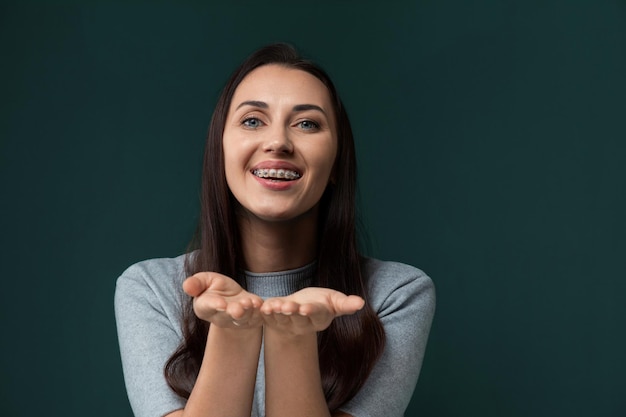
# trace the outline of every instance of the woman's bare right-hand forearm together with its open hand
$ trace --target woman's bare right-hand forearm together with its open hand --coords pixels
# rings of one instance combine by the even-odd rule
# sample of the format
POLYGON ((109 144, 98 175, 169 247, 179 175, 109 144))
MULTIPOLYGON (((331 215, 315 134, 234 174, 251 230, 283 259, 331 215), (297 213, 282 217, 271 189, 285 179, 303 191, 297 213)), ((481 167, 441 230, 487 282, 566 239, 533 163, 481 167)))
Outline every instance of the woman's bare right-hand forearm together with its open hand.
POLYGON ((265 315, 267 417, 330 417, 320 376, 317 332, 363 304, 360 297, 326 288, 306 288, 265 302, 261 312, 265 315))

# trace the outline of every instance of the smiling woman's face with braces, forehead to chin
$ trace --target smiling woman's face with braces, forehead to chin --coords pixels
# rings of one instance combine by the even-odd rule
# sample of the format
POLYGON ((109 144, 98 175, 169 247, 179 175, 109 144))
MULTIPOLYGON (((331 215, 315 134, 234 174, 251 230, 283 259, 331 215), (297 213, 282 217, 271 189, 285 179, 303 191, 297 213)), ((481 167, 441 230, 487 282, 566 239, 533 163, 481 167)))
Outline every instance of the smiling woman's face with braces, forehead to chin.
POLYGON ((239 84, 224 127, 226 181, 242 207, 281 221, 310 213, 330 181, 337 129, 326 86, 279 65, 239 84))

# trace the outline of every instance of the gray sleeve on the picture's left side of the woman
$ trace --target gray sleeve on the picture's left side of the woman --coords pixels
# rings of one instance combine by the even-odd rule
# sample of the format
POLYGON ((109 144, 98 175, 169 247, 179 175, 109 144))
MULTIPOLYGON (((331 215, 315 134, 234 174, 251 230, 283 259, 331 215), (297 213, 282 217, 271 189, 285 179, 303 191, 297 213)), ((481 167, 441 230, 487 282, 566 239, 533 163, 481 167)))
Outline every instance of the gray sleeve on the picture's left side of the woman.
POLYGON ((117 280, 115 318, 126 391, 136 417, 161 417, 185 405, 163 376, 181 340, 177 274, 172 260, 152 260, 131 266, 117 280))

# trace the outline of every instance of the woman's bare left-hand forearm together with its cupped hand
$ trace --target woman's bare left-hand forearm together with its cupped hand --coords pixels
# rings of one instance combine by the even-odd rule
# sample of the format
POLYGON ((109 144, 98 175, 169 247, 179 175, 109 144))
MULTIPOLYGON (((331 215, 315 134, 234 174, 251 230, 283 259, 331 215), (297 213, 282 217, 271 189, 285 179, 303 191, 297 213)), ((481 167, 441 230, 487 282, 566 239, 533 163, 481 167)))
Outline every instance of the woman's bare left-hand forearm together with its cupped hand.
POLYGON ((202 365, 183 410, 168 416, 249 417, 261 350, 262 300, 220 274, 187 279, 194 312, 211 322, 202 365))

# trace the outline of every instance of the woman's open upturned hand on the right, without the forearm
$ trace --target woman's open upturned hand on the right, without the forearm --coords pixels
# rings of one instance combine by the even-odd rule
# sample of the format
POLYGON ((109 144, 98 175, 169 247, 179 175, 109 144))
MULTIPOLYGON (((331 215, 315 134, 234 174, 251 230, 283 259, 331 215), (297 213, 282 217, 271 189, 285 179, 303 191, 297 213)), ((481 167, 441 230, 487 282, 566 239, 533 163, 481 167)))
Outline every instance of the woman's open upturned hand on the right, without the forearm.
POLYGON ((292 335, 325 330, 335 317, 354 314, 365 305, 356 295, 308 287, 287 297, 270 298, 261 306, 265 325, 292 335))

